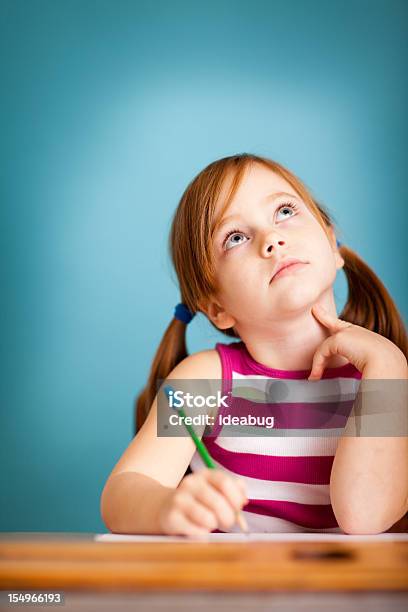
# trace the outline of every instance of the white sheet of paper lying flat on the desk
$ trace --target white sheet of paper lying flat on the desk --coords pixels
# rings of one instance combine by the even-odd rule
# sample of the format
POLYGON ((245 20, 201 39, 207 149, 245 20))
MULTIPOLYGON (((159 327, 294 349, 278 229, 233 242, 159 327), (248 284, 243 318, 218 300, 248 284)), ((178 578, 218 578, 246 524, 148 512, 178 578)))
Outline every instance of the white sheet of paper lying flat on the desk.
POLYGON ((98 533, 97 542, 381 542, 408 541, 408 533, 348 535, 343 533, 209 533, 203 536, 125 535, 98 533))

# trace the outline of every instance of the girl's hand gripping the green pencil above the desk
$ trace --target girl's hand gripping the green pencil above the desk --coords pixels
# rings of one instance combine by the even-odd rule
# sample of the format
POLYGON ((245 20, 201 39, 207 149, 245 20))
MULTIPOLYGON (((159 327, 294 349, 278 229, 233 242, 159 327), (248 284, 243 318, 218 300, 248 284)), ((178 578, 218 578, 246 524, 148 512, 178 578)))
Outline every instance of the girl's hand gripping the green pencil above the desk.
POLYGON ((185 476, 161 509, 159 523, 168 535, 200 535, 228 529, 248 503, 245 485, 222 470, 203 468, 185 476))

